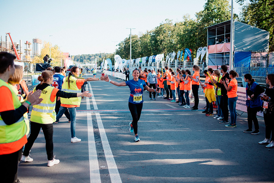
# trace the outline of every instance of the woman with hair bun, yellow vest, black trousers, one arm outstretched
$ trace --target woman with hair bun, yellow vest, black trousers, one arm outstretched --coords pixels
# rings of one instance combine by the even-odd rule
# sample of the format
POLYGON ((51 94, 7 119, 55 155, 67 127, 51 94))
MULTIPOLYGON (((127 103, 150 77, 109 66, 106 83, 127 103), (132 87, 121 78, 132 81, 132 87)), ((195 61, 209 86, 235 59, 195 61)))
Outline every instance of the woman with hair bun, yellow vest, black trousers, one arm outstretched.
POLYGON ((38 77, 41 81, 33 91, 37 89, 41 90, 41 98, 43 101, 32 107, 32 112, 30 116, 30 128, 31 132, 28 138, 28 142, 25 145, 24 153, 21 161, 32 162, 33 159, 29 157, 29 151, 35 139, 42 128, 43 134, 46 140, 46 153, 48 158, 47 166, 53 166, 58 164, 59 159, 55 159, 53 156, 53 123, 56 121, 55 104, 56 97, 71 98, 71 97, 91 97, 91 94, 87 91, 83 93, 68 93, 61 91, 53 86, 50 86, 53 82, 53 72, 43 71, 41 76, 38 77))

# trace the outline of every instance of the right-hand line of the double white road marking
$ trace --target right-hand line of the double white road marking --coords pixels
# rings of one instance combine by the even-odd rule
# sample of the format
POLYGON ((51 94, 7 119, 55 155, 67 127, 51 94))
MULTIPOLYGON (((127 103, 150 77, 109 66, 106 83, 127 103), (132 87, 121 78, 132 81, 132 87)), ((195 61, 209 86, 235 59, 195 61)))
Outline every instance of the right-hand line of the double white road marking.
MULTIPOLYGON (((94 98, 94 95, 92 92, 91 84, 88 83, 88 86, 89 86, 89 91, 92 94, 92 102, 93 102, 94 110, 98 110, 98 107, 97 107, 97 104, 96 104, 96 101, 95 101, 95 98, 94 98)), ((97 124, 98 124, 98 128, 99 128, 99 132, 100 132, 100 137, 102 140, 105 158, 106 158, 106 161, 108 164, 108 172, 110 175, 110 180, 113 183, 116 183, 116 182, 122 183, 118 168, 116 166, 116 162, 114 160, 112 151, 110 149, 110 145, 109 145, 108 138, 107 138, 107 135, 105 132, 105 128, 104 128, 104 125, 102 123, 101 116, 99 113, 96 113, 96 120, 97 120, 97 124)))

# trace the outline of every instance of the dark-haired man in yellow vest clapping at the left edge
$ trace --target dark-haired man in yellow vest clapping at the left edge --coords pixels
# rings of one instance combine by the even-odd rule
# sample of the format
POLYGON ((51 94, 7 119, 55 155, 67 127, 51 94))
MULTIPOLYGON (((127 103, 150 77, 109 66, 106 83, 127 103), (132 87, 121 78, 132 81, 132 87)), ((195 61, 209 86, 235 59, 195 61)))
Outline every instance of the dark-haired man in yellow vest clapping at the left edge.
MULTIPOLYGON (((27 100, 20 102, 16 92, 7 83, 15 72, 14 59, 7 52, 0 52, 0 161, 1 182, 19 182, 17 178, 18 163, 22 156, 23 146, 27 143, 27 125, 24 114, 32 104, 39 104, 41 91, 30 92, 27 100)), ((20 78, 21 80, 22 78, 20 78)))

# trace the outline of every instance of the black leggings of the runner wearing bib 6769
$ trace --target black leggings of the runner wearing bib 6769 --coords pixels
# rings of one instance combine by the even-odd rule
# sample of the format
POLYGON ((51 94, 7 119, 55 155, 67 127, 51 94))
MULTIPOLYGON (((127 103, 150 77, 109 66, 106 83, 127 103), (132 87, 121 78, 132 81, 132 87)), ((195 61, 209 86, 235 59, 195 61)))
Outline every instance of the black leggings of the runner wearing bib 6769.
POLYGON ((132 116, 132 126, 134 130, 134 134, 138 133, 138 121, 141 116, 143 103, 140 104, 134 104, 134 103, 128 103, 128 108, 130 110, 131 116, 132 116))

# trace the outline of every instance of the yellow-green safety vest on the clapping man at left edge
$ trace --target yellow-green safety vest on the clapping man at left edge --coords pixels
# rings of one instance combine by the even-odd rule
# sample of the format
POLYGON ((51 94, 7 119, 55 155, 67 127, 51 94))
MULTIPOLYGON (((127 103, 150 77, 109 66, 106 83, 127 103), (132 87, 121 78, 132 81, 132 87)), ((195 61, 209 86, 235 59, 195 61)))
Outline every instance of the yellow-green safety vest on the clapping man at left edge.
MULTIPOLYGON (((18 99, 14 90, 10 87, 8 83, 0 79, 0 87, 6 86, 10 89, 12 97, 13 97, 13 106, 14 109, 17 109, 21 106, 21 102, 18 99)), ((27 132, 27 125, 24 121, 24 117, 22 116, 17 122, 13 123, 12 125, 7 125, 0 115, 0 144, 15 142, 22 137, 27 132)), ((23 146, 23 145, 22 145, 23 146)))

